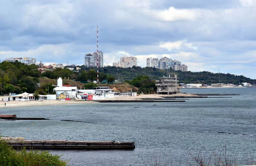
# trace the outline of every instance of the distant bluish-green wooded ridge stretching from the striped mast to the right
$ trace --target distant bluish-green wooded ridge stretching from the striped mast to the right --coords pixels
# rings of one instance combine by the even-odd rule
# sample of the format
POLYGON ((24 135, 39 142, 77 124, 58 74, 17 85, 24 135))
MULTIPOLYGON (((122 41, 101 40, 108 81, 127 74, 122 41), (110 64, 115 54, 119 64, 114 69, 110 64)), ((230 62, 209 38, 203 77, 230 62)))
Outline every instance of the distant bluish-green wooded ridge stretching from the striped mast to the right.
MULTIPOLYGON (((81 72, 83 70, 90 70, 96 68, 85 68, 84 65, 80 66, 81 72)), ((157 69, 157 68, 141 68, 141 67, 132 67, 132 68, 116 68, 108 66, 106 68, 99 68, 99 72, 105 72, 106 75, 114 76, 115 78, 120 78, 121 81, 136 78, 137 76, 148 76, 150 79, 158 80, 159 77, 168 76, 167 70, 157 69), (104 70, 105 69, 105 70, 104 70), (119 76, 119 77, 118 77, 119 76)), ((180 83, 202 83, 202 84, 214 84, 219 83, 219 74, 211 73, 208 71, 202 72, 182 72, 182 71, 173 71, 171 70, 171 75, 177 74, 180 83)), ((256 79, 250 79, 244 76, 237 76, 234 74, 224 74, 220 73, 220 83, 232 83, 239 84, 241 82, 256 83, 256 79)))

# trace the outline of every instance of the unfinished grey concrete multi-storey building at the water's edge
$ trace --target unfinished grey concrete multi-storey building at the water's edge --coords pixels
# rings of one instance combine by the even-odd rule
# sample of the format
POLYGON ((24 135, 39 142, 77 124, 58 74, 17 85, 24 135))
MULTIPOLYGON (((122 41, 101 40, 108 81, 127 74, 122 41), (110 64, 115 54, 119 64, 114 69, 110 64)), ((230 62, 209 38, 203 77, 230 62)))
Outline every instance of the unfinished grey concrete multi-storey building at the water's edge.
POLYGON ((156 80, 157 94, 170 95, 180 93, 177 75, 174 77, 161 77, 156 80))

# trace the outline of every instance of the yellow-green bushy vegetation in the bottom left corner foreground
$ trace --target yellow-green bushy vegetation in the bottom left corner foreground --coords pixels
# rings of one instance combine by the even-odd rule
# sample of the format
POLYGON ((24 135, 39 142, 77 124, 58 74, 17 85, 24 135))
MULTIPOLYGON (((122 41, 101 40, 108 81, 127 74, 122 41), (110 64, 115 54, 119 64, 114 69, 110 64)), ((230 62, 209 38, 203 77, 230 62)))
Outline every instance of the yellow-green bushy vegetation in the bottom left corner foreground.
POLYGON ((21 149, 17 151, 0 139, 0 166, 67 166, 59 155, 47 151, 21 149))

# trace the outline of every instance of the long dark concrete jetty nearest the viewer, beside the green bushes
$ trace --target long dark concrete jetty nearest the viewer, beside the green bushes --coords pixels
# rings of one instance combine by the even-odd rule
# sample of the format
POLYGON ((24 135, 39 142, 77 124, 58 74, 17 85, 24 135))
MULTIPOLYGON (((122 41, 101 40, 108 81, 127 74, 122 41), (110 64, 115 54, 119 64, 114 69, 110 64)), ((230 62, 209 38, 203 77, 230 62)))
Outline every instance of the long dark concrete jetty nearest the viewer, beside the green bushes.
POLYGON ((14 149, 58 149, 58 150, 131 150, 134 142, 115 141, 67 141, 67 140, 12 140, 4 138, 14 149))

